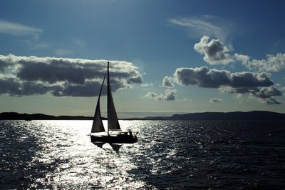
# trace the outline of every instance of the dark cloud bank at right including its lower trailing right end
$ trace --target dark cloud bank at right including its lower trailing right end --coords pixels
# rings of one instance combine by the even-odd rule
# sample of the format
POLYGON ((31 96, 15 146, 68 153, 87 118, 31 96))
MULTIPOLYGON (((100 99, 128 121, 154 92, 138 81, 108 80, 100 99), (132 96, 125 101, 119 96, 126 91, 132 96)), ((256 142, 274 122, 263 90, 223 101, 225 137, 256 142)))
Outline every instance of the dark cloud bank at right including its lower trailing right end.
MULTIPOLYGON (((208 69, 207 66, 197 68, 177 68, 173 75, 175 82, 181 86, 199 86, 217 88, 223 93, 246 94, 266 104, 281 104, 274 96, 282 96, 282 92, 274 87, 270 74, 249 71, 231 73, 227 70, 208 69)), ((210 102, 219 102, 211 99, 210 102)))

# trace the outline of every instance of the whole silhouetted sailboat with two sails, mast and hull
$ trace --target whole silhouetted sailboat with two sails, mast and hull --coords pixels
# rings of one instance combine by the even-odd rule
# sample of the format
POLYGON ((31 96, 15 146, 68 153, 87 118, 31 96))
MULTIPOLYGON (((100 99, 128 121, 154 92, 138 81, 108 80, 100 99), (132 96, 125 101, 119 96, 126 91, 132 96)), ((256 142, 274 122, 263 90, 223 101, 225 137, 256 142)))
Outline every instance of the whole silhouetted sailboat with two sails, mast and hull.
POLYGON ((108 128, 107 134, 105 134, 105 128, 102 121, 102 116, 100 113, 100 96, 103 89, 106 74, 104 76, 100 93, 98 96, 98 101, 95 109, 95 114, 93 117, 93 124, 91 129, 91 142, 94 143, 110 143, 110 144, 132 144, 138 141, 136 135, 132 134, 132 131, 121 131, 120 124, 118 121, 117 112, 115 111, 115 105, 113 102, 111 87, 110 87, 110 74, 109 74, 109 61, 107 67, 107 113, 108 113, 108 128), (113 132, 117 132, 113 134, 113 132))

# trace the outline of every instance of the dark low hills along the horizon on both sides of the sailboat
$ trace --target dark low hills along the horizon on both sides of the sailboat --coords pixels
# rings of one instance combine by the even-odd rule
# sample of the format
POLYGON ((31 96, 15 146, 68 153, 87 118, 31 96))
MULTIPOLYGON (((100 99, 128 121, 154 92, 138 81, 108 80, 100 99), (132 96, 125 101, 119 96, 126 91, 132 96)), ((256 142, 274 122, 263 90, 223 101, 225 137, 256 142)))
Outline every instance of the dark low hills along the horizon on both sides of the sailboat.
MULTIPOLYGON (((90 120, 90 116, 51 116, 46 114, 19 114, 3 112, 0 120, 90 120)), ((285 121, 285 114, 271 111, 234 111, 234 112, 203 112, 192 114, 174 114, 172 116, 147 116, 125 120, 270 120, 285 121)))

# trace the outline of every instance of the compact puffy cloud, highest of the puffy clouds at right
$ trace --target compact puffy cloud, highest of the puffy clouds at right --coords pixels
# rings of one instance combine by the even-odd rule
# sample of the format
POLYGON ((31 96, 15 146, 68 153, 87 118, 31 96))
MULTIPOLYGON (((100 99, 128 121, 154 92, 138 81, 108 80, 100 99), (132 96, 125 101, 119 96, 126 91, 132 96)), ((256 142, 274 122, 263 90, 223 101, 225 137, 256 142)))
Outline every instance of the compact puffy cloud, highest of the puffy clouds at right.
POLYGON ((209 41, 208 36, 203 36, 199 43, 195 44, 194 49, 204 55, 204 61, 209 64, 229 64, 234 61, 229 52, 229 48, 224 46, 219 39, 209 41))

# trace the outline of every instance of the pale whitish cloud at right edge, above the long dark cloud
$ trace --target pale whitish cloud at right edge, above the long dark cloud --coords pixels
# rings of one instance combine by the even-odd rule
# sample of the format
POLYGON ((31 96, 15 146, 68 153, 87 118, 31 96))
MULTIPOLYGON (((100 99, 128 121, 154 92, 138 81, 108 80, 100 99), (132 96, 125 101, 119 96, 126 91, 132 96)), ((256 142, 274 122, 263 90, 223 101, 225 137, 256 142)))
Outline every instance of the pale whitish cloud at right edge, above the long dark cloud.
POLYGON ((276 56, 268 54, 266 59, 253 59, 244 62, 244 65, 250 70, 278 72, 285 69, 285 54, 278 53, 276 56))

